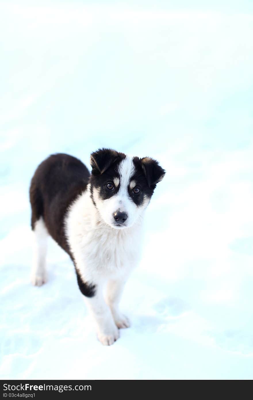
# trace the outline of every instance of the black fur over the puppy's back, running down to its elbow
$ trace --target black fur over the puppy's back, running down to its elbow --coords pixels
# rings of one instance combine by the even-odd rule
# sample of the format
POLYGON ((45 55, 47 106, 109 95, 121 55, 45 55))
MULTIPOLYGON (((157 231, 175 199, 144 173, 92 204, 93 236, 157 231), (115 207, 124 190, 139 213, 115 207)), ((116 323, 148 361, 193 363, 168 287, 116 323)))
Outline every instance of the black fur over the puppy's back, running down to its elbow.
MULTIPOLYGON (((80 160, 68 154, 53 154, 38 166, 30 185, 32 229, 42 217, 48 233, 73 262, 64 220, 70 204, 86 190, 89 179, 90 172, 80 160)), ((95 285, 83 282, 77 269, 76 274, 82 294, 94 296, 95 285)))

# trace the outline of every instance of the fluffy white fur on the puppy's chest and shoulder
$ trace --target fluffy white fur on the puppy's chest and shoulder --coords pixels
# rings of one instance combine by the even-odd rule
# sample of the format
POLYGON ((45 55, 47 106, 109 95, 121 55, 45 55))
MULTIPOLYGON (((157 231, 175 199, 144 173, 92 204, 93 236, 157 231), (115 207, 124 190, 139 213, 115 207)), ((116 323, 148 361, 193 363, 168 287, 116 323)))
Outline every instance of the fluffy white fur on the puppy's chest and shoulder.
POLYGON ((141 224, 111 228, 94 207, 89 188, 70 206, 65 226, 76 266, 86 282, 128 275, 139 261, 141 224))

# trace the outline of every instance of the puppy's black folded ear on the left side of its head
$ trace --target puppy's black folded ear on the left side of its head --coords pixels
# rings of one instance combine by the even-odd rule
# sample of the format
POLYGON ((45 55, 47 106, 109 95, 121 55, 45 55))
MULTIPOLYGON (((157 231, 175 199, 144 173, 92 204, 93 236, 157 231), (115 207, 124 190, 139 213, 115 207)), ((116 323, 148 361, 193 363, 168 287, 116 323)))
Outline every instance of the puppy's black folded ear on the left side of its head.
POLYGON ((119 153, 116 150, 98 149, 90 156, 92 173, 103 174, 114 162, 123 160, 125 157, 124 153, 119 153))

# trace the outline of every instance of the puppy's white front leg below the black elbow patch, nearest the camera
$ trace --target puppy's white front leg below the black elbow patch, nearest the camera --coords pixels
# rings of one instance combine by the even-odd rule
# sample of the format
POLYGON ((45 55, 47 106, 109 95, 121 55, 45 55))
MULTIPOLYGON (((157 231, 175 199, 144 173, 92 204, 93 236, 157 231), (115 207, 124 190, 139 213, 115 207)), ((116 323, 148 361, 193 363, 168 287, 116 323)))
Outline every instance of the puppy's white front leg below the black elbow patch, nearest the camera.
POLYGON ((120 331, 114 322, 110 307, 104 300, 102 287, 96 286, 95 295, 84 298, 95 320, 98 340, 105 346, 110 346, 120 337, 120 331))

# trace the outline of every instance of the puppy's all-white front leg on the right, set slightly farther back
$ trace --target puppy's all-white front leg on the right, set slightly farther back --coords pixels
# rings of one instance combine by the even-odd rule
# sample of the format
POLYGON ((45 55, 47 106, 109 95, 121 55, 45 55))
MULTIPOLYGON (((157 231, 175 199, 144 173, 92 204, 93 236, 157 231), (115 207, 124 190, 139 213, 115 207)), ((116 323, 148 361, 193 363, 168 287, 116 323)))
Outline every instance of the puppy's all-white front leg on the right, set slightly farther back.
POLYGON ((112 311, 114 321, 118 328, 129 328, 130 321, 119 310, 120 298, 126 283, 126 279, 110 280, 107 285, 106 302, 112 311))

